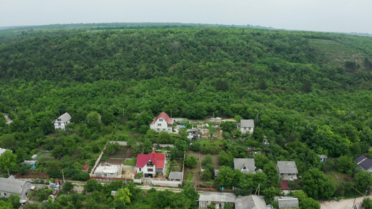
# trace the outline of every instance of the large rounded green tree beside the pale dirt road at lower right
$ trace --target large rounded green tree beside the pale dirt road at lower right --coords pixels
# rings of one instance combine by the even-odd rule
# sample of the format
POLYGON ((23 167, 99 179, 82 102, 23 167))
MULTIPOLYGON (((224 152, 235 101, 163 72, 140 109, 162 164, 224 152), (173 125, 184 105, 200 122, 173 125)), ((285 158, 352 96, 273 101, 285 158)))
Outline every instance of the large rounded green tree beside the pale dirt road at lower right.
POLYGON ((313 199, 329 199, 336 191, 334 183, 319 169, 309 169, 302 183, 304 192, 313 199))

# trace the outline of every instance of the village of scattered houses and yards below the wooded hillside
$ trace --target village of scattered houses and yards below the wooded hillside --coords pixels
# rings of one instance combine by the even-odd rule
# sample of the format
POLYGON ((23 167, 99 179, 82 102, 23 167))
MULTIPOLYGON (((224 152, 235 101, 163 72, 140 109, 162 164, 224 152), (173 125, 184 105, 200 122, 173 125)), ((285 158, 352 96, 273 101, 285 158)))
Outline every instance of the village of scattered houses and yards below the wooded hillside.
MULTIPOLYGON (((4 115, 7 117, 6 115, 4 115)), ((10 118, 6 118, 11 121, 10 118)), ((70 123, 71 116, 68 113, 61 115, 53 121, 56 130, 66 130, 68 123, 70 123)), ((249 136, 254 132, 254 121, 244 120, 235 121, 234 119, 209 118, 207 121, 188 121, 186 118, 170 118, 168 114, 162 112, 149 125, 151 130, 155 132, 168 132, 170 134, 179 134, 180 130, 186 130, 187 140, 190 147, 195 141, 206 141, 210 144, 218 144, 221 146, 223 141, 223 129, 220 125, 224 121, 236 123, 236 130, 241 132, 240 136, 249 136), (186 125, 190 128, 187 128, 186 125)), ((10 122, 11 123, 11 122, 10 122)), ((235 136, 233 136, 235 137, 235 136)), ((263 144, 269 144, 268 141, 262 141, 263 144)), ((113 180, 124 180, 125 182, 133 182, 137 185, 150 187, 164 187, 165 189, 177 188, 180 186, 191 186, 200 193, 198 199, 198 208, 224 208, 225 204, 230 204, 232 208, 259 208, 269 209, 274 206, 268 205, 265 202, 265 196, 260 193, 260 184, 251 191, 250 195, 236 196, 232 189, 225 189, 218 187, 214 179, 217 178, 221 164, 218 163, 218 153, 208 155, 200 151, 184 148, 181 157, 171 157, 172 148, 177 148, 174 144, 152 144, 151 152, 148 154, 134 155, 133 148, 127 141, 107 141, 105 147, 98 156, 93 167, 85 164, 82 171, 89 172, 90 179, 96 179, 101 183, 109 183, 113 180), (107 146, 116 146, 117 150, 110 156, 103 156, 106 153, 107 146), (195 167, 185 165, 186 156, 193 156, 197 162, 195 167), (202 173, 207 167, 204 167, 204 160, 211 157, 210 165, 214 168, 213 176, 209 180, 202 178, 202 173), (171 160, 173 159, 173 160, 171 160), (254 193, 253 193, 254 192, 254 193)), ((0 148, 0 155, 5 153, 6 149, 0 148)), ((234 158, 233 168, 241 173, 263 173, 262 169, 256 169, 255 156, 262 155, 261 151, 255 151, 252 148, 246 148, 246 153, 250 153, 252 158, 234 158)), ((327 160, 327 155, 318 155, 320 162, 327 160)), ((364 171, 371 171, 372 160, 369 160, 364 155, 358 157, 355 162, 364 169, 364 171)), ((25 160, 24 165, 28 165, 31 169, 37 166, 38 156, 33 155, 31 160, 25 160)), ((297 208, 299 207, 299 200, 294 196, 288 196, 291 192, 297 191, 291 185, 298 185, 301 180, 297 177, 298 171, 294 161, 278 161, 276 162, 276 169, 281 179, 279 189, 282 191, 282 196, 275 196, 275 201, 278 202, 278 208, 297 208)), ((29 199, 29 194, 34 192, 38 187, 43 187, 43 184, 36 184, 36 180, 22 180, 17 177, 20 175, 10 176, 9 178, 0 178, 0 195, 10 196, 10 194, 17 194, 20 196, 20 203, 26 204, 29 199), (15 178, 16 177, 16 178, 15 178)), ((23 177, 24 178, 24 177, 23 177)), ((66 180, 53 180, 53 182, 45 181, 45 187, 53 189, 50 195, 52 200, 57 196, 59 189, 63 187, 66 180)), ((146 187, 142 187, 146 188, 146 187)), ((263 188, 262 188, 263 189, 263 188)), ((82 189, 80 190, 82 192, 82 189)), ((112 191, 112 196, 117 191, 112 191)), ((177 192, 177 191, 176 191, 177 192)))

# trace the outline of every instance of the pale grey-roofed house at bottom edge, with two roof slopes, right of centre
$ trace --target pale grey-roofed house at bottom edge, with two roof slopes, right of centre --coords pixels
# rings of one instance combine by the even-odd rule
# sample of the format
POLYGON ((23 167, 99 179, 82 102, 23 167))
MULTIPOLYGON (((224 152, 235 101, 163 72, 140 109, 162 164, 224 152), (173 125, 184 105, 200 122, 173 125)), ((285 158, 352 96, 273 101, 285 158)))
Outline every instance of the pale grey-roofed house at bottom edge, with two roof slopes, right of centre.
POLYGON ((238 196, 235 199, 235 209, 267 209, 267 206, 261 196, 238 196))

